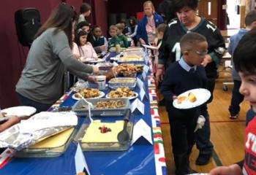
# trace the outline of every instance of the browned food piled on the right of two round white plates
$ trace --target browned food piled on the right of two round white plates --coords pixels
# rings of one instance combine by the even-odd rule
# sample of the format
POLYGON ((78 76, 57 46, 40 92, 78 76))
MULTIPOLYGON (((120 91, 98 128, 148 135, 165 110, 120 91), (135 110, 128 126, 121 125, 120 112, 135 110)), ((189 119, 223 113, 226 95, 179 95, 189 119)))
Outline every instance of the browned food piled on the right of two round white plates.
POLYGON ((132 96, 136 96, 136 94, 134 91, 129 90, 128 87, 119 87, 116 90, 111 90, 110 93, 108 93, 108 97, 110 98, 126 98, 132 96))

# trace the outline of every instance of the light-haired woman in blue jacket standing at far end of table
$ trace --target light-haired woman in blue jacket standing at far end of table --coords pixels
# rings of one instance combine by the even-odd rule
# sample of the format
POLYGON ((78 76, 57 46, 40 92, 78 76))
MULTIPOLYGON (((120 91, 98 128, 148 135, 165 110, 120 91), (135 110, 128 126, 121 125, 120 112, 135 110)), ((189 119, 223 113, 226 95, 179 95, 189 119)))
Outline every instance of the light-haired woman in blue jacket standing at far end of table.
POLYGON ((143 3, 143 12, 145 16, 138 24, 136 37, 140 44, 154 43, 156 28, 163 22, 162 17, 155 12, 152 1, 143 3))

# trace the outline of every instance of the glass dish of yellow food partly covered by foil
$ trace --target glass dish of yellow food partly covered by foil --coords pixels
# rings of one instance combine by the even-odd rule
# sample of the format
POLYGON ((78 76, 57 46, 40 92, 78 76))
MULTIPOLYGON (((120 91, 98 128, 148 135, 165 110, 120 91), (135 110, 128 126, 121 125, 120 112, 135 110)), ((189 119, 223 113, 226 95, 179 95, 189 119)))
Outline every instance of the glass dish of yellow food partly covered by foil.
POLYGON ((22 149, 18 152, 15 152, 15 157, 18 158, 50 158, 58 157, 66 152, 67 147, 71 143, 78 129, 75 127, 67 128, 60 133, 57 133, 53 136, 50 136, 42 141, 37 142, 37 144, 31 145, 26 149, 22 149), (54 144, 50 145, 50 143, 54 144))

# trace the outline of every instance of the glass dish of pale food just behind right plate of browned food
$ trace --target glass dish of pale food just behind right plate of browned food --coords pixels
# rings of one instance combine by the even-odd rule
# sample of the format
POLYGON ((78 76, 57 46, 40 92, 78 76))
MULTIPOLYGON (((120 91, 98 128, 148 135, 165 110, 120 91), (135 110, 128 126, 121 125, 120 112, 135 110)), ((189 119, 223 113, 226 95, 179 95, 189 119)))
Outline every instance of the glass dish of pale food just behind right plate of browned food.
POLYGON ((129 89, 136 87, 136 79, 131 77, 117 77, 108 81, 109 88, 116 89, 118 87, 127 86, 129 89))

